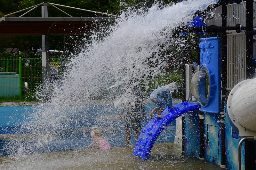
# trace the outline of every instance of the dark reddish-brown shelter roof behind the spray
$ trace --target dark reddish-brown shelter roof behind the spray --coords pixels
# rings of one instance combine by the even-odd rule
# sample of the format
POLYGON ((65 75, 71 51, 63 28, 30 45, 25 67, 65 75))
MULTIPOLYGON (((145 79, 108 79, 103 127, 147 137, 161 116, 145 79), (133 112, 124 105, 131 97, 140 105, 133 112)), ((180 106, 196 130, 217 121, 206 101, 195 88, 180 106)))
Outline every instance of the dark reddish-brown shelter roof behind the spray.
POLYGON ((90 33, 116 17, 2 17, 0 35, 68 35, 90 33))

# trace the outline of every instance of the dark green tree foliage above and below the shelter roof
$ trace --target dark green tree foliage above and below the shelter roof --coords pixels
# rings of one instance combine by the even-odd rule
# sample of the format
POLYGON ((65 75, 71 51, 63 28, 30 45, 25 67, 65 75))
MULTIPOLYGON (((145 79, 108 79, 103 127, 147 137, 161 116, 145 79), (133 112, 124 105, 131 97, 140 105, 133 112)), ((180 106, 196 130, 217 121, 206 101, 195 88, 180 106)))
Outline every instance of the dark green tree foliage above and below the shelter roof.
MULTIPOLYGON (((45 0, 44 3, 50 2, 53 4, 71 6, 91 11, 99 11, 109 14, 115 14, 118 16, 128 7, 134 7, 135 9, 143 7, 149 8, 156 3, 168 5, 171 3, 176 3, 178 1, 180 0, 45 0)), ((0 17, 41 3, 42 0, 1 0, 0 17)), ((106 17, 106 15, 99 15, 93 12, 79 11, 61 6, 57 7, 73 17, 106 17)), ((11 17, 19 17, 25 12, 26 11, 16 13, 14 15, 11 15, 11 17)), ((29 12, 24 17, 41 17, 41 6, 38 6, 36 9, 29 12)), ((48 17, 67 17, 67 15, 52 6, 48 6, 48 17)), ((77 39, 81 39, 81 37, 78 36, 78 38, 74 38, 74 36, 66 36, 66 42, 68 42, 69 44, 74 44, 74 41, 79 42, 77 39)), ((63 36, 52 35, 49 36, 49 40, 50 49, 63 50, 63 36)), ((41 46, 41 36, 0 36, 0 52, 5 51, 6 48, 19 48, 20 51, 34 50, 34 52, 36 52, 36 49, 41 46)))

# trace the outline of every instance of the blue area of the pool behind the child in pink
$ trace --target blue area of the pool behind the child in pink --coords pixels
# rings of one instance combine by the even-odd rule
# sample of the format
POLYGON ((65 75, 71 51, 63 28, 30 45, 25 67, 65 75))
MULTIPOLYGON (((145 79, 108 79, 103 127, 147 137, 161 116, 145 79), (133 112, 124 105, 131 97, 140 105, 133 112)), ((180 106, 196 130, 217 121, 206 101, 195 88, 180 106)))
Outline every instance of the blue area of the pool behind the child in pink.
MULTIPOLYGON (((61 116, 61 119, 56 122, 51 120, 54 116, 48 120, 48 117, 37 114, 44 109, 51 110, 48 107, 0 107, 0 156, 82 150, 92 142, 90 131, 95 128, 102 130, 111 146, 125 144, 120 110, 111 105, 70 106, 60 110, 56 117, 61 116)), ((153 108, 154 105, 146 104, 146 114, 153 108)), ((148 121, 149 118, 141 121, 141 126, 148 121)), ((174 137, 175 121, 164 129, 156 143, 174 142, 174 137)), ((131 144, 135 144, 134 132, 131 144)))

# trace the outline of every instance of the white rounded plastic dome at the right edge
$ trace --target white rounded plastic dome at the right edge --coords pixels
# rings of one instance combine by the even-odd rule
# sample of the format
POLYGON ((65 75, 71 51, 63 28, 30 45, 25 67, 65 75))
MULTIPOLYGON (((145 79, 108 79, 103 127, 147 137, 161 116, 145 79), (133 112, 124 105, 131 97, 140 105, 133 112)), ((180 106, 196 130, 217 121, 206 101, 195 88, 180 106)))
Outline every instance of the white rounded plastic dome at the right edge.
POLYGON ((227 107, 231 124, 256 132, 256 78, 238 83, 229 93, 227 107))

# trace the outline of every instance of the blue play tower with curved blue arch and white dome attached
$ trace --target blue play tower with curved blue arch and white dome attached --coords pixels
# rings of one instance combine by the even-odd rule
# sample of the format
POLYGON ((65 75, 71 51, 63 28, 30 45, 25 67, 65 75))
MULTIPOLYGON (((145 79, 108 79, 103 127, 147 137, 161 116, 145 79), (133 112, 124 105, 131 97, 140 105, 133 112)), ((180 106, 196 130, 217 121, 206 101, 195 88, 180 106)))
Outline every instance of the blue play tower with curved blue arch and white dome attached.
MULTIPOLYGON (((184 39, 202 30, 206 36, 214 35, 200 38, 200 66, 195 71, 191 64, 182 65, 182 103, 175 105, 176 109, 166 108, 162 119, 155 117, 142 129, 133 154, 150 159, 158 135, 183 115, 184 155, 221 168, 256 169, 256 2, 219 0, 207 10, 215 17, 198 13, 188 26, 180 27, 184 39)), ((184 48, 183 63, 189 50, 184 48)))

